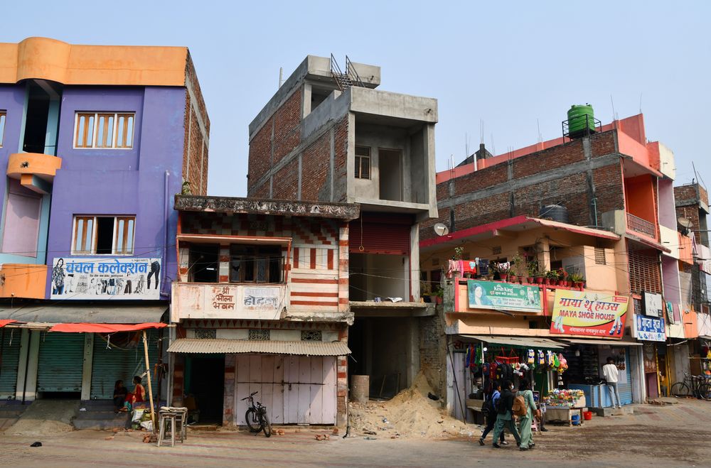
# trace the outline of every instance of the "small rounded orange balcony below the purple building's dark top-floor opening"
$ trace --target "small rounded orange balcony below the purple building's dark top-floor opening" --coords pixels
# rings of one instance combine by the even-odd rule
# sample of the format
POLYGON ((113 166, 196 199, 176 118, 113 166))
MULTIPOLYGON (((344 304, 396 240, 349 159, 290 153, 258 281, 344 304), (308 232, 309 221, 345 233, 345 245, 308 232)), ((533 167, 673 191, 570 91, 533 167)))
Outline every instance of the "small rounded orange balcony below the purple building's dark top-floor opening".
POLYGON ((62 158, 42 153, 14 153, 7 163, 7 176, 18 179, 24 187, 46 195, 52 191, 52 182, 62 158))

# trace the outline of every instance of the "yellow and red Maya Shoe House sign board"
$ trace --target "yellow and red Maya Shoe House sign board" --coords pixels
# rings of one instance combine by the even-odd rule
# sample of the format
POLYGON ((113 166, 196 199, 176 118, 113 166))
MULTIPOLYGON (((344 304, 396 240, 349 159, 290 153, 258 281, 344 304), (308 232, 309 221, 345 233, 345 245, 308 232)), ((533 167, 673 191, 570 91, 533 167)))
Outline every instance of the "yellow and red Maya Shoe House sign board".
POLYGON ((624 295, 557 289, 550 332, 621 339, 628 303, 624 295))

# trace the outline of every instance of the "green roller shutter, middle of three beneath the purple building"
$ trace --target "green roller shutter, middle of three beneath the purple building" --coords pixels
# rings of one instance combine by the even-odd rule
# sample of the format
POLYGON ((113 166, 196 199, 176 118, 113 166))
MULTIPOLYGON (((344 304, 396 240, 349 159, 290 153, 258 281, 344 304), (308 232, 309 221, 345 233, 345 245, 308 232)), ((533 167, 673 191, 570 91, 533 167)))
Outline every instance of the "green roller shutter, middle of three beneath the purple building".
POLYGON ((37 367, 37 391, 82 391, 83 333, 43 332, 37 367))

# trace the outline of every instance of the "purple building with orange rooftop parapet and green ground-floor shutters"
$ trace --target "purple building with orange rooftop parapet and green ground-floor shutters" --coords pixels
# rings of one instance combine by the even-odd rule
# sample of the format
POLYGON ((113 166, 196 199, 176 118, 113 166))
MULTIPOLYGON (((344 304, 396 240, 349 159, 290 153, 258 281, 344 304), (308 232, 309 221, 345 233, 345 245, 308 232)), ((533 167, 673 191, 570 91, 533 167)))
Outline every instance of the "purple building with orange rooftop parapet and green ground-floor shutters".
POLYGON ((173 197, 205 195, 209 132, 187 48, 0 43, 0 399, 133 390, 138 334, 48 330, 165 319, 173 197))

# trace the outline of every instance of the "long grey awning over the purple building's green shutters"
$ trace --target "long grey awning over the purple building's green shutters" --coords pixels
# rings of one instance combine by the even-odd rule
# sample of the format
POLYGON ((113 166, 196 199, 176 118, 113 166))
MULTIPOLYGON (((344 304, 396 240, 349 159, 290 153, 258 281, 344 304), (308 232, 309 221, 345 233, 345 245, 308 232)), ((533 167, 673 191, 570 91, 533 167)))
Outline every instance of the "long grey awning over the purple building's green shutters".
MULTIPOLYGON (((66 302, 64 303, 66 304, 66 302)), ((167 305, 77 304, 29 305, 14 309, 1 308, 0 320, 11 319, 32 323, 143 323, 160 322, 167 305)))

